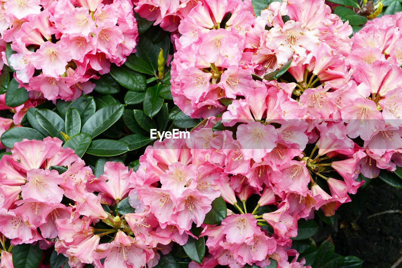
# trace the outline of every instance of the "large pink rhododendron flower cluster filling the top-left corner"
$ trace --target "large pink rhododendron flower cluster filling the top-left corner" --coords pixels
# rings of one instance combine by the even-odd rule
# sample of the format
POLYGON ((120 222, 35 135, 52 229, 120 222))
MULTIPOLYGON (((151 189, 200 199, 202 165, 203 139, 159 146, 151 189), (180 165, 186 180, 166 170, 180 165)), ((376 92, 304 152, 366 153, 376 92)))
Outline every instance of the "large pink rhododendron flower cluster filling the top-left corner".
MULTIPOLYGON (((138 36, 128 0, 8 0, 0 9, 2 42, 12 42, 14 78, 31 98, 74 100, 135 52, 138 36)), ((6 63, 3 50, 2 60, 6 63)))

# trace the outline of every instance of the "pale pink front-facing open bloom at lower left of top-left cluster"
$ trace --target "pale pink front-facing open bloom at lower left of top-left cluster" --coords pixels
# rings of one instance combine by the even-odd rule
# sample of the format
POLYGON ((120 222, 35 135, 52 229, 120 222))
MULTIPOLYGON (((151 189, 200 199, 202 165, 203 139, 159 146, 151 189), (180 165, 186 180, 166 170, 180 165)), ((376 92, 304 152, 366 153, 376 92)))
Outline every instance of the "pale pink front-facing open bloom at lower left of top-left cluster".
POLYGON ((66 72, 66 65, 72 59, 66 45, 49 41, 41 44, 31 57, 36 69, 42 69, 44 75, 55 78, 66 72))

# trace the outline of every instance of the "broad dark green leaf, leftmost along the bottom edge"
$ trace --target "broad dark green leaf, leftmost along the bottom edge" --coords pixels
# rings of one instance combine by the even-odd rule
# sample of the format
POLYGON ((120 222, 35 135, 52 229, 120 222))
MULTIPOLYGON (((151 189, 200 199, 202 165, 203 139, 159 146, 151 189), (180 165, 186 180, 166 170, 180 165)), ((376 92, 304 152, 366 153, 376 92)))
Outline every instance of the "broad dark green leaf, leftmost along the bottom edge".
POLYGON ((12 247, 14 268, 37 268, 42 259, 43 250, 39 245, 20 244, 12 247))

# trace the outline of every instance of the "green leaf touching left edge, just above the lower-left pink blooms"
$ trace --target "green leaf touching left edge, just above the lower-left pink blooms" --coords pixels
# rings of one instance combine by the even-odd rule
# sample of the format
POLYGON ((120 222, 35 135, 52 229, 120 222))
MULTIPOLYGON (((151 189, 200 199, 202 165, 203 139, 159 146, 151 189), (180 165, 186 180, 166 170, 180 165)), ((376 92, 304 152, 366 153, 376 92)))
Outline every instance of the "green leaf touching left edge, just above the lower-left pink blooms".
POLYGON ((12 148, 15 142, 21 142, 23 139, 43 140, 44 137, 42 133, 30 127, 13 127, 1 135, 1 143, 8 148, 12 148))

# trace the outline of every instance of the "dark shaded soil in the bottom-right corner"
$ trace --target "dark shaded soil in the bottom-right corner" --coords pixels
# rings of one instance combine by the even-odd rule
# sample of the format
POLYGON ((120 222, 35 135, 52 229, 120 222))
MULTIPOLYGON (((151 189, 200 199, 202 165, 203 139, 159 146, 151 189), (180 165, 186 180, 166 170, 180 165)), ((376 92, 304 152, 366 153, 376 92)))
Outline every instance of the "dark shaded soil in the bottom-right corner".
MULTIPOLYGON (((402 256, 402 214, 369 216, 388 210, 402 211, 402 190, 374 179, 352 200, 340 206, 334 227, 324 224, 315 241, 321 243, 331 235, 335 252, 359 257, 363 260, 362 268, 390 268, 402 256)), ((402 264, 398 267, 402 268, 402 264)))

